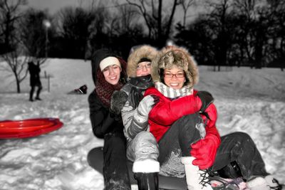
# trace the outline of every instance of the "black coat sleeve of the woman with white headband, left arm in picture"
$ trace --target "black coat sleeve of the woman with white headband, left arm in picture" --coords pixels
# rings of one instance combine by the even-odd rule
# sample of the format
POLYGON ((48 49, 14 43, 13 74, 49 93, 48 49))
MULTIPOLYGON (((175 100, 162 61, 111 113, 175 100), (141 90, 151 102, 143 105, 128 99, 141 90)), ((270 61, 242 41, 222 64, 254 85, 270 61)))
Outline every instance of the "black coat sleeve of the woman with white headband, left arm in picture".
POLYGON ((109 110, 103 107, 94 91, 89 95, 88 103, 93 134, 98 138, 103 138, 104 134, 110 131, 115 119, 111 117, 109 110))

